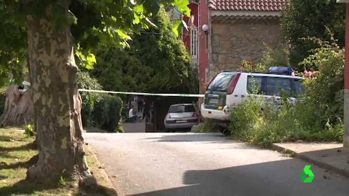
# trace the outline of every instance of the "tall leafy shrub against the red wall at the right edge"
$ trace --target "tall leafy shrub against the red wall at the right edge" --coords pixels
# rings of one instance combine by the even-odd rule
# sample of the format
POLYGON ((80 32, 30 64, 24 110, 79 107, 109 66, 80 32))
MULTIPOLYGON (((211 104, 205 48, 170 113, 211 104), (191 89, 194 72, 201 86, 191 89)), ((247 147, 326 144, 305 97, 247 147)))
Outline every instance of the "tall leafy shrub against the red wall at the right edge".
MULTIPOLYGON (((333 38, 332 38, 333 39, 333 38)), ((342 122, 344 111, 344 49, 339 49, 334 42, 318 41, 322 47, 314 49, 314 55, 301 62, 305 69, 314 67, 315 77, 304 82, 307 108, 313 107, 318 123, 337 125, 342 122)))

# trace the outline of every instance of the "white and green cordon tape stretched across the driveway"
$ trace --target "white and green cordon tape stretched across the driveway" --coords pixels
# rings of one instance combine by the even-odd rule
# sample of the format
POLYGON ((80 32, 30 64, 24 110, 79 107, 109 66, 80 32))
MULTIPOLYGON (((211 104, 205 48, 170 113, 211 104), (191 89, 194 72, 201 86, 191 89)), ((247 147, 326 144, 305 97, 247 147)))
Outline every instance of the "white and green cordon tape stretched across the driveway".
MULTIPOLYGON (((22 82, 24 85, 30 86, 30 82, 22 82)), ((27 89, 18 89, 19 92, 29 91, 27 89)), ((102 91, 102 90, 89 90, 89 89, 79 89, 80 92, 94 92, 94 93, 113 93, 113 94, 126 94, 126 95, 148 95, 148 96, 164 96, 164 97, 193 97, 193 98, 203 98, 204 95, 198 94, 166 94, 166 93, 134 93, 134 92, 119 92, 119 91, 102 91)))

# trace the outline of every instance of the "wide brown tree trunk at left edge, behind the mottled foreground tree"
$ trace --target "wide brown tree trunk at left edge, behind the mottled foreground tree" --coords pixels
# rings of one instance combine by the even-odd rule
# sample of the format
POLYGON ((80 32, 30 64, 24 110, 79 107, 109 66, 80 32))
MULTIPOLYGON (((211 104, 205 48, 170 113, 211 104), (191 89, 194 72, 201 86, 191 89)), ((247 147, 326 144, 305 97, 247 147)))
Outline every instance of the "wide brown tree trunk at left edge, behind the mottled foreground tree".
MULTIPOLYGON (((27 62, 24 62, 24 69, 27 67, 27 62)), ((24 72, 25 73, 25 72, 24 72)), ((29 73, 25 73, 25 81, 30 82, 29 73)), ((23 85, 24 89, 29 88, 23 85)), ((1 127, 20 127, 25 124, 32 124, 33 119, 33 102, 30 98, 30 92, 19 92, 17 85, 9 85, 6 89, 5 108, 0 117, 1 127)))

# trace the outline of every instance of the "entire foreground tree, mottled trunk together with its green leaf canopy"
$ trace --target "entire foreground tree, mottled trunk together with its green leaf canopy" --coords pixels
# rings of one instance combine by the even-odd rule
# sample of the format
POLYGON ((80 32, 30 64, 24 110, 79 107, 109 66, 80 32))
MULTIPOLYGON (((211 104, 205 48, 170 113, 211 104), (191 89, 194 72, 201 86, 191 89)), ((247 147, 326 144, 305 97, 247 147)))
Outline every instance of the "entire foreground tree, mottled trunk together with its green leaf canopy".
POLYGON ((75 62, 93 68, 98 50, 128 46, 133 33, 156 27, 150 17, 169 4, 190 16, 188 0, 0 0, 0 86, 10 72, 21 83, 21 62, 29 56, 31 64, 40 137, 38 162, 27 170, 27 180, 56 184, 64 177, 79 179, 81 187, 96 185, 84 157, 75 62))

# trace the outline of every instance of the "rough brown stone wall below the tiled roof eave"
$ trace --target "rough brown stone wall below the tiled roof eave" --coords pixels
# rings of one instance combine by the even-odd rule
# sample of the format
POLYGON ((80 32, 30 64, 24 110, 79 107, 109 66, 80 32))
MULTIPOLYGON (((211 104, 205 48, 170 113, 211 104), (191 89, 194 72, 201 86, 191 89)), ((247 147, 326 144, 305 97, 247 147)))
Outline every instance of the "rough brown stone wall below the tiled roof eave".
POLYGON ((279 21, 215 23, 210 33, 209 75, 221 70, 236 70, 243 60, 260 63, 264 43, 272 48, 284 45, 279 21))

